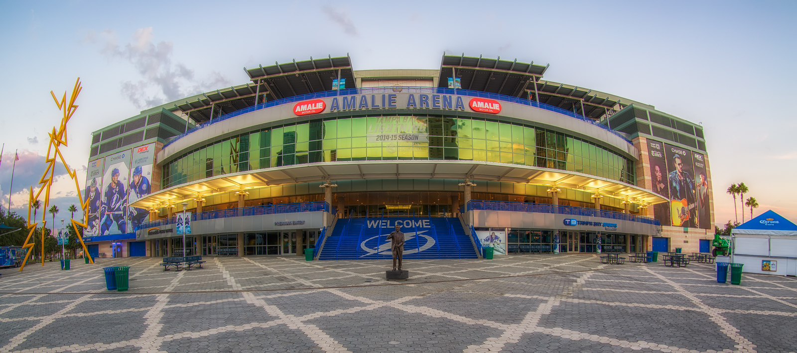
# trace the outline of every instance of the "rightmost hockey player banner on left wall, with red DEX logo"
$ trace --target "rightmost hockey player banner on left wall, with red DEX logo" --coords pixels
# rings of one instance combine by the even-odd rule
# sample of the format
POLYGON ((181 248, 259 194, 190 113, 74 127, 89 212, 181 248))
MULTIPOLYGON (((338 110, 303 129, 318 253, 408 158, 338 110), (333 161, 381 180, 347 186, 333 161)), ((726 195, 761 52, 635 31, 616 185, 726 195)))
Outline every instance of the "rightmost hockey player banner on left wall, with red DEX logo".
MULTIPOLYGON (((141 200, 151 192, 152 165, 155 163, 155 143, 141 145, 133 149, 130 165, 130 183, 128 183, 128 205, 141 200)), ((135 227, 149 222, 149 211, 145 208, 128 208, 129 232, 135 227)))

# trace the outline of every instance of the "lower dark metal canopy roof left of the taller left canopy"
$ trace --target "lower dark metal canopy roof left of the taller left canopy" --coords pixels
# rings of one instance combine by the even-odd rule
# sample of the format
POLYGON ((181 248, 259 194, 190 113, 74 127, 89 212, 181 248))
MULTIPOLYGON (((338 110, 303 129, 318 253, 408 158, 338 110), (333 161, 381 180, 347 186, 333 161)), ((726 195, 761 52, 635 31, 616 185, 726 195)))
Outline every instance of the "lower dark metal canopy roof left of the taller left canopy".
MULTIPOLYGON (((254 96, 257 91, 257 84, 246 83, 240 86, 194 95, 183 100, 183 103, 175 103, 175 107, 183 111, 183 113, 189 114, 194 122, 202 123, 210 120, 211 111, 213 112, 213 118, 218 118, 222 114, 252 107, 255 104, 254 96)), ((261 83, 261 99, 258 103, 263 103, 264 99, 262 97, 266 91, 268 91, 268 88, 265 87, 265 83, 261 83)))

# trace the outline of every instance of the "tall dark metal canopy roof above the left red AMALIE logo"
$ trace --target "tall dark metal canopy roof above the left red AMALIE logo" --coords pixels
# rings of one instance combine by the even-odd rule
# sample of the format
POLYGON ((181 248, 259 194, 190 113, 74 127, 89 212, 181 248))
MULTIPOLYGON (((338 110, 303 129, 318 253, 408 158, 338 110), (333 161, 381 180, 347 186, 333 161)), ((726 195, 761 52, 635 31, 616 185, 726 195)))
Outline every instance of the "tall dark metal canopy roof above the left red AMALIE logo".
POLYGON ((244 68, 253 82, 267 83, 269 100, 285 99, 294 95, 306 95, 332 90, 332 80, 340 76, 346 79, 346 88, 356 88, 354 72, 349 56, 296 61, 287 64, 244 68))

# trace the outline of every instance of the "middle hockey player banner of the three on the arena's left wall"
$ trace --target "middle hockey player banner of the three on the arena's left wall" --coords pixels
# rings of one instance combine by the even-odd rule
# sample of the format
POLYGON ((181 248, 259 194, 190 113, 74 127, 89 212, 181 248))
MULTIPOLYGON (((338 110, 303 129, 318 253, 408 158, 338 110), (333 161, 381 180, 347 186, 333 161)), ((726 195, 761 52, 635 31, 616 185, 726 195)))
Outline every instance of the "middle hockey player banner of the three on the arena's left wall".
POLYGON ((105 157, 102 177, 100 235, 128 233, 128 185, 130 184, 130 149, 105 157))

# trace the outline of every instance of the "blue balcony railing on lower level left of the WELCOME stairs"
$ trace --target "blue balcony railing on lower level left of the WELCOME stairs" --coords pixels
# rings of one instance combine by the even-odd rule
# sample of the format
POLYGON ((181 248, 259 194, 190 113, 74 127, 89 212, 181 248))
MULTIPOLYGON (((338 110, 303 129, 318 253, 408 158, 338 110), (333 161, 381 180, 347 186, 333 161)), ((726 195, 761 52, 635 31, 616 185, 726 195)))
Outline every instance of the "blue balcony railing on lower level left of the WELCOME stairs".
MULTIPOLYGON (((298 212, 313 212, 313 211, 329 211, 329 204, 326 202, 302 202, 298 204, 269 204, 265 206, 253 206, 249 208, 227 208, 218 211, 205 211, 205 212, 192 212, 191 222, 206 219, 220 219, 230 217, 241 217, 245 215, 277 215, 281 213, 298 213, 298 212)), ((139 229, 147 229, 151 227, 161 227, 169 224, 177 223, 179 212, 175 215, 165 219, 158 219, 155 221, 139 224, 135 227, 134 231, 139 229)))

